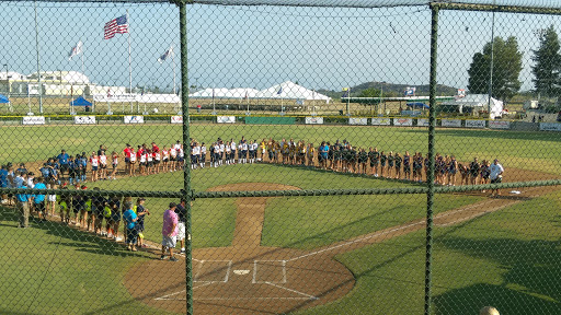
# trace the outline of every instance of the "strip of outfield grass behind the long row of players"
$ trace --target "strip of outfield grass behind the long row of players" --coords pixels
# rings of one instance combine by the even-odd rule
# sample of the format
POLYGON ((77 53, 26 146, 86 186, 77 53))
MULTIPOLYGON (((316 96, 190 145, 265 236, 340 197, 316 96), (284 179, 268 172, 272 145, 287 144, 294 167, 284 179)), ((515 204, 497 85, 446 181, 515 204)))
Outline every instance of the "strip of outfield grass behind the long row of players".
MULTIPOLYGON (((181 126, 172 125, 99 125, 99 126, 43 126, 0 128, 2 161, 44 161, 57 155, 60 149, 70 154, 91 152, 104 144, 108 152, 122 152, 125 143, 133 145, 157 142, 161 148, 182 139, 181 126)), ((191 137, 207 145, 218 137, 239 141, 263 138, 294 138, 314 143, 322 140, 346 139, 356 147, 378 147, 380 151, 410 153, 427 150, 424 128, 389 128, 359 126, 262 126, 262 125, 197 125, 191 126, 191 137)), ((558 156, 561 155, 560 137, 556 132, 522 132, 500 130, 438 129, 436 151, 456 155, 458 161, 501 159, 506 167, 561 174, 558 156)))

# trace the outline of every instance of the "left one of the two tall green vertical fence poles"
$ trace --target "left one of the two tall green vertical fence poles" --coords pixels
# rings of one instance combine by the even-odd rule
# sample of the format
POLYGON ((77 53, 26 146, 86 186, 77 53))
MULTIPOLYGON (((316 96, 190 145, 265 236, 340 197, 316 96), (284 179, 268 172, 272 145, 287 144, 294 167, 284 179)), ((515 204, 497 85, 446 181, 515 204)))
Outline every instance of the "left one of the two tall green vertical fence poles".
MULTIPOLYGON (((183 115, 183 148, 190 150, 190 124, 188 124, 188 72, 187 72, 187 9, 186 1, 179 3, 180 7, 180 40, 181 40, 181 103, 183 115)), ((187 151, 188 152, 188 151, 187 151)), ((187 315, 193 315, 193 266, 192 266, 192 240, 191 240, 191 154, 185 154, 185 167, 183 167, 183 185, 185 192, 185 209, 187 214, 185 218, 185 291, 187 315)))

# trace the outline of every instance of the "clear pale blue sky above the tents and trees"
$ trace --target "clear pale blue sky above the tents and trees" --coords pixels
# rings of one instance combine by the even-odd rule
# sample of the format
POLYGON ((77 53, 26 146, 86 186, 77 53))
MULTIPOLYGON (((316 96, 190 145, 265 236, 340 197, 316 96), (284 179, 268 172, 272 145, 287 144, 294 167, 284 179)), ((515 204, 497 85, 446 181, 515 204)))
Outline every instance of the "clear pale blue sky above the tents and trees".
MULTIPOLYGON (((33 2, 0 3, 0 65, 25 74, 37 71, 33 2)), ((524 52, 523 90, 533 89, 530 67, 541 28, 561 25, 558 16, 440 11, 439 84, 468 85, 473 54, 494 35, 516 36, 524 52)), ((179 85, 179 55, 157 61, 170 46, 179 54, 179 9, 170 3, 37 2, 42 71, 81 71, 68 54, 83 42, 84 72, 98 84, 128 86, 130 36, 134 86, 171 90, 179 85), (103 39, 103 25, 129 14, 129 34, 103 39)), ((308 89, 340 91, 378 81, 412 86, 428 83, 431 11, 396 8, 311 8, 190 4, 190 84, 204 88, 265 89, 290 80, 308 89)), ((4 70, 5 68, 2 68, 4 70)))

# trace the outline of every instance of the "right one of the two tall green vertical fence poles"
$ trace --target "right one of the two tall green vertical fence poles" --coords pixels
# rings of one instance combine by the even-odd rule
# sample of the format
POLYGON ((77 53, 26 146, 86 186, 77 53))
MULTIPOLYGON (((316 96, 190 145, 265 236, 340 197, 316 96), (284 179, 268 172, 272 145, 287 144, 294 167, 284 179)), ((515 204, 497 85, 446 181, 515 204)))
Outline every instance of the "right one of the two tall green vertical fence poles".
POLYGON ((431 22, 431 77, 428 93, 428 173, 426 186, 426 253, 425 253, 425 315, 430 315, 433 287, 433 203, 434 203, 434 151, 436 129, 436 54, 438 48, 438 7, 432 7, 431 22))

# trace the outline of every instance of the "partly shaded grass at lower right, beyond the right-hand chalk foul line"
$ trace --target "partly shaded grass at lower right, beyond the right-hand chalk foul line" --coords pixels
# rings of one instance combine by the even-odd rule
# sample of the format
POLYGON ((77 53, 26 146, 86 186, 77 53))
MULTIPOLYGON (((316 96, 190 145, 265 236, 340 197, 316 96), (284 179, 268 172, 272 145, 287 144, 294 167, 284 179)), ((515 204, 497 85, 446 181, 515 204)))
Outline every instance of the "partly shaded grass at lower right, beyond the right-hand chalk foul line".
MULTIPOLYGON (((437 228, 433 314, 561 312, 557 191, 457 226, 437 228)), ((337 256, 356 279, 334 303, 298 314, 420 314, 424 305, 424 231, 337 256)))

